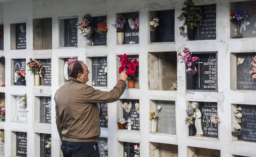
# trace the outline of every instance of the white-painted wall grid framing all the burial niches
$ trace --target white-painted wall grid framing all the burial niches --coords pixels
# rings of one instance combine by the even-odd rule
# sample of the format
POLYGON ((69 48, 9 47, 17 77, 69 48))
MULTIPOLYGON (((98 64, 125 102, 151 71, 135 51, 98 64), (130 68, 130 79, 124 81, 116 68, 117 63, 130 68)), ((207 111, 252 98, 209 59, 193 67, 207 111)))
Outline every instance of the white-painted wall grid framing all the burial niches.
MULTIPOLYGON (((238 0, 232 0, 232 2, 238 0)), ((242 0, 240 0, 242 1, 242 0)), ((116 83, 116 55, 123 53, 139 55, 139 86, 140 89, 126 89, 122 99, 140 100, 140 128, 138 131, 117 129, 117 103, 108 104, 108 130, 102 129, 101 137, 108 137, 108 156, 118 156, 118 141, 136 142, 141 144, 141 157, 149 157, 149 142, 169 143, 178 145, 179 157, 187 156, 187 146, 211 148, 221 151, 221 157, 231 157, 231 154, 254 157, 256 155, 256 143, 244 141, 232 141, 231 138, 231 104, 256 105, 255 91, 231 90, 230 85, 230 53, 231 52, 256 52, 256 39, 230 39, 230 0, 195 0, 196 5, 217 4, 217 38, 206 41, 186 41, 180 36, 178 28, 182 23, 177 19, 183 7, 182 0, 18 0, 0 4, 0 24, 4 23, 4 51, 0 50, 0 56, 5 56, 6 79, 5 92, 6 122, 0 122, 0 129, 5 129, 5 157, 12 155, 11 145, 13 131, 28 133, 28 157, 35 156, 35 141, 37 133, 52 134, 52 157, 60 156, 60 139, 55 125, 55 91, 59 88, 58 81, 58 57, 78 56, 84 60, 92 56, 108 56, 108 89, 116 83), (148 43, 148 11, 175 9, 175 42, 148 43), (116 45, 116 32, 111 26, 117 13, 139 11, 140 31, 139 44, 116 45), (92 16, 107 15, 108 34, 107 46, 88 47, 85 38, 78 35, 78 48, 59 48, 58 46, 58 17, 79 16, 81 20, 84 14, 92 16), (52 18, 52 50, 33 50, 32 19, 52 18), (10 50, 10 24, 26 22, 27 49, 10 50), (218 93, 213 92, 185 92, 185 64, 178 62, 178 90, 177 91, 150 91, 148 90, 148 52, 180 52, 184 47, 193 51, 218 51, 218 93), (17 58, 52 59, 52 86, 33 86, 34 77, 28 73, 26 86, 11 86, 11 59, 17 58), (43 89, 44 93, 39 93, 43 89), (28 123, 14 123, 10 121, 11 95, 24 94, 28 96, 28 123), (52 96, 52 124, 34 124, 34 96, 52 96), (149 103, 150 100, 174 100, 176 102, 176 132, 177 135, 150 134, 149 133, 149 103), (219 139, 206 137, 188 137, 188 127, 184 123, 188 100, 218 102, 219 139)), ((15 152, 13 152, 15 153, 15 152)))

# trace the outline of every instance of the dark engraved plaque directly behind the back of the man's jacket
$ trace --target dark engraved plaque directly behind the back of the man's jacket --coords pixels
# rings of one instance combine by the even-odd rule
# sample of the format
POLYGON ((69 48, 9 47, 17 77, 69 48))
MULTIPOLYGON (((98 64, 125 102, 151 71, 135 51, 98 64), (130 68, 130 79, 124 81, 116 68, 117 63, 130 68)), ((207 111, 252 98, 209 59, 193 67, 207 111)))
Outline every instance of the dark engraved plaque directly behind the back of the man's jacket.
POLYGON ((40 123, 51 124, 51 97, 40 97, 40 123))

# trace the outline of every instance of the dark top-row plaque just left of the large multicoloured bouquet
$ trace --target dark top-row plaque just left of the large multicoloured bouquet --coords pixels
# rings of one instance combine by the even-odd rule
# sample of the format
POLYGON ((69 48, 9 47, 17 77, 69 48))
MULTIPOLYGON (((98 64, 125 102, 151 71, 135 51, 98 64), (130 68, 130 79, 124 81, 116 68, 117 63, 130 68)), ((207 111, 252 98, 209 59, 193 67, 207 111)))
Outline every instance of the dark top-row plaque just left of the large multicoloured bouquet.
POLYGON ((77 18, 65 19, 64 21, 64 46, 77 46, 77 18))

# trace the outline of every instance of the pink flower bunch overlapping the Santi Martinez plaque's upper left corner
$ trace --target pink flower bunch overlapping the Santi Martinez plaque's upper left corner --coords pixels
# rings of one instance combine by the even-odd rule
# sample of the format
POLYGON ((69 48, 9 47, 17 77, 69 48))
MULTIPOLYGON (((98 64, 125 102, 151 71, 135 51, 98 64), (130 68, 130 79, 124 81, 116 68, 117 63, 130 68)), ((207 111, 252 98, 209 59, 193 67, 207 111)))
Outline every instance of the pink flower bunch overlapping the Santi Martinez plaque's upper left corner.
POLYGON ((178 53, 178 56, 182 57, 182 61, 180 61, 180 63, 187 64, 187 70, 186 71, 188 73, 191 73, 191 71, 196 73, 197 69, 196 69, 196 66, 195 66, 195 62, 200 60, 199 57, 192 57, 192 52, 189 52, 188 48, 184 48, 183 52, 184 52, 184 55, 181 55, 181 52, 178 53))

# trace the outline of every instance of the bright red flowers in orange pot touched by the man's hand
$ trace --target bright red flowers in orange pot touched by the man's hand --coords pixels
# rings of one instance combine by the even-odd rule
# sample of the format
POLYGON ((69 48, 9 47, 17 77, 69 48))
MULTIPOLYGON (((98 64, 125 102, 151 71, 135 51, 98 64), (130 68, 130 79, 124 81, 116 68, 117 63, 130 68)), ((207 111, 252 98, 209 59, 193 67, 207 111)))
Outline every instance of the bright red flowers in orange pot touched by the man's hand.
POLYGON ((122 73, 124 70, 128 75, 128 81, 130 82, 129 88, 135 88, 134 80, 138 79, 138 61, 137 58, 128 58, 128 55, 120 55, 119 73, 122 73))

